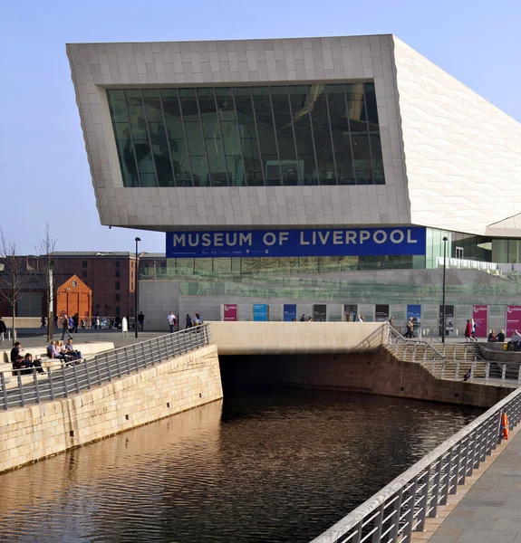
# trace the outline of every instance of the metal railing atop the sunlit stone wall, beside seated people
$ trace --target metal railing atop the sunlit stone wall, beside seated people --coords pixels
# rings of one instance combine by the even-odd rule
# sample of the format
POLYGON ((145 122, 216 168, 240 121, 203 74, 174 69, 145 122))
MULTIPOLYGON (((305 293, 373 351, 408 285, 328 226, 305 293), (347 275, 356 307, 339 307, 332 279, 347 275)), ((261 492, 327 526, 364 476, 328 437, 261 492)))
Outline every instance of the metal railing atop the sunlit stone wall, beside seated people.
MULTIPOLYGON (((182 330, 173 334, 116 348, 84 359, 72 366, 53 369, 46 374, 36 370, 32 375, 21 375, 27 370, 0 372, 0 409, 40 404, 44 401, 80 394, 92 386, 110 383, 121 376, 154 366, 209 344, 208 325, 182 330), (17 374, 17 375, 13 375, 17 374)), ((31 371, 31 370, 29 370, 31 371)))

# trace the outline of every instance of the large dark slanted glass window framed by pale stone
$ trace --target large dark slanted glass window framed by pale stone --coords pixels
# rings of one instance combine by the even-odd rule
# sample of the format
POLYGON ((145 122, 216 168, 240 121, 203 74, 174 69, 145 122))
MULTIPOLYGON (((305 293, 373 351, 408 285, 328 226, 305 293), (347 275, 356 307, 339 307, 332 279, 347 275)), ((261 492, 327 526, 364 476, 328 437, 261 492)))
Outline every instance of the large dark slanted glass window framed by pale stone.
POLYGON ((385 183, 372 82, 107 93, 124 186, 385 183))

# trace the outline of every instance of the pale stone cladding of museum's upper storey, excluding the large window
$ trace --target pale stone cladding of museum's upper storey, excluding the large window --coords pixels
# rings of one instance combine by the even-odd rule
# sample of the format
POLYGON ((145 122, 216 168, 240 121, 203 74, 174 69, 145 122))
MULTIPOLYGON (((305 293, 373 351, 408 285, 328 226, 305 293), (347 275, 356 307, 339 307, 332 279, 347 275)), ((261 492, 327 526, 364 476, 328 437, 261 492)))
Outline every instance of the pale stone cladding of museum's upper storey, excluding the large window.
POLYGON ((72 43, 67 53, 102 224, 421 224, 484 233, 519 212, 508 197, 521 173, 519 123, 395 36, 72 43), (384 186, 123 188, 107 89, 301 81, 374 81, 384 186))

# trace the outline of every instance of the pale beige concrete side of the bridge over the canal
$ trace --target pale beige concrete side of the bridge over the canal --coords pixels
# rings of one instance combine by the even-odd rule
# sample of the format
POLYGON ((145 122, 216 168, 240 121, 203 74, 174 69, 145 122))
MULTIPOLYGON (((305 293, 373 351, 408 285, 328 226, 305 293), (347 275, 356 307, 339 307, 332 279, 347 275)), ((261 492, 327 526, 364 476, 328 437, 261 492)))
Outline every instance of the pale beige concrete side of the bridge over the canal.
POLYGON ((212 322, 219 355, 374 352, 379 322, 212 322))

